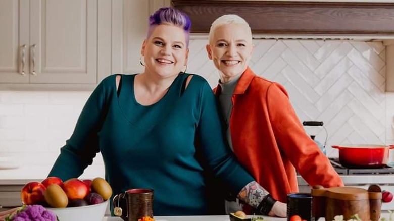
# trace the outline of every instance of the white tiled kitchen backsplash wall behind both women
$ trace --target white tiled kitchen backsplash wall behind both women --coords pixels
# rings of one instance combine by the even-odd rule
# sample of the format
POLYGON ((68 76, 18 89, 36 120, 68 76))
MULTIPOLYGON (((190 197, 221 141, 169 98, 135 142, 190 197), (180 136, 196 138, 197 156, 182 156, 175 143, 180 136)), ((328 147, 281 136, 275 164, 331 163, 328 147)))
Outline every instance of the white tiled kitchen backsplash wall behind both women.
MULTIPOLYGON (((205 52, 206 39, 190 41, 188 72, 211 86, 217 73, 205 52)), ((394 144, 394 93, 385 93, 385 47, 381 42, 255 40, 251 67, 280 82, 301 121, 323 121, 327 146, 394 144)), ((135 65, 139 65, 138 61, 135 65)), ((16 154, 23 166, 48 170, 73 131, 90 92, 0 91, 0 156, 16 154)), ((323 141, 321 128, 308 128, 323 141)), ((337 151, 329 148, 330 156, 337 151)), ((392 154, 393 155, 393 154, 392 154)), ((94 164, 101 165, 97 155, 94 164)))

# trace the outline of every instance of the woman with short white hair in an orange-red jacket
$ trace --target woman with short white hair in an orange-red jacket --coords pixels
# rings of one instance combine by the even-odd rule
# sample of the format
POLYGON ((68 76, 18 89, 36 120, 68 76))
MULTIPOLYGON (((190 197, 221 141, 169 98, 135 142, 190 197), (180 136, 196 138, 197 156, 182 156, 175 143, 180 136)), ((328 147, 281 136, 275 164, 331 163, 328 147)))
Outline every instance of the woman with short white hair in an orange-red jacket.
MULTIPOLYGON (((248 67, 253 47, 251 28, 243 18, 223 15, 212 23, 206 49, 219 72, 214 92, 231 149, 269 197, 280 202, 299 191, 296 170, 310 186, 343 186, 306 134, 284 87, 248 67)), ((251 213, 251 208, 244 211, 251 213)))

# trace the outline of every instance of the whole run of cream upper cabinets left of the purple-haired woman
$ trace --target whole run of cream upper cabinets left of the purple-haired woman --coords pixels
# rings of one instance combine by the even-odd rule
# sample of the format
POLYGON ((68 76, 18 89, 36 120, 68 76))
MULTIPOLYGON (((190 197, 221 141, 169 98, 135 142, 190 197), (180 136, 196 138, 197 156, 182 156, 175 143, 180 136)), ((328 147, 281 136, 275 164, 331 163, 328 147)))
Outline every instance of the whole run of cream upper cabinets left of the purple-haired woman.
POLYGON ((137 73, 150 14, 170 0, 0 1, 0 90, 91 90, 137 73))

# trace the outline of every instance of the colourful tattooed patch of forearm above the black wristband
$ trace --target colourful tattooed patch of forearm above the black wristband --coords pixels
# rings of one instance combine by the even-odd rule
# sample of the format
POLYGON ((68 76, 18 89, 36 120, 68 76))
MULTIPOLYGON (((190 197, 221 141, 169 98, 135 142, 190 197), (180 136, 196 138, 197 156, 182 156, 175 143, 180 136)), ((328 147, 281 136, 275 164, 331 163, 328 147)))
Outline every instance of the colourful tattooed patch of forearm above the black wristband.
POLYGON ((237 197, 252 207, 257 208, 263 198, 268 194, 256 181, 252 181, 242 188, 237 197))

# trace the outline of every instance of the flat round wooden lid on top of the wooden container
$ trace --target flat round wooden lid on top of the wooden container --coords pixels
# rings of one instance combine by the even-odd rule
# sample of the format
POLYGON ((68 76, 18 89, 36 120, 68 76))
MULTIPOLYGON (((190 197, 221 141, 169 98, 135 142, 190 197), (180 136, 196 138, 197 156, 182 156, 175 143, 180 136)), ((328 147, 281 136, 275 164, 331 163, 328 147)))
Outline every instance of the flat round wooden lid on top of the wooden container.
POLYGON ((368 191, 358 187, 331 187, 327 188, 326 196, 340 200, 368 200, 368 191))

